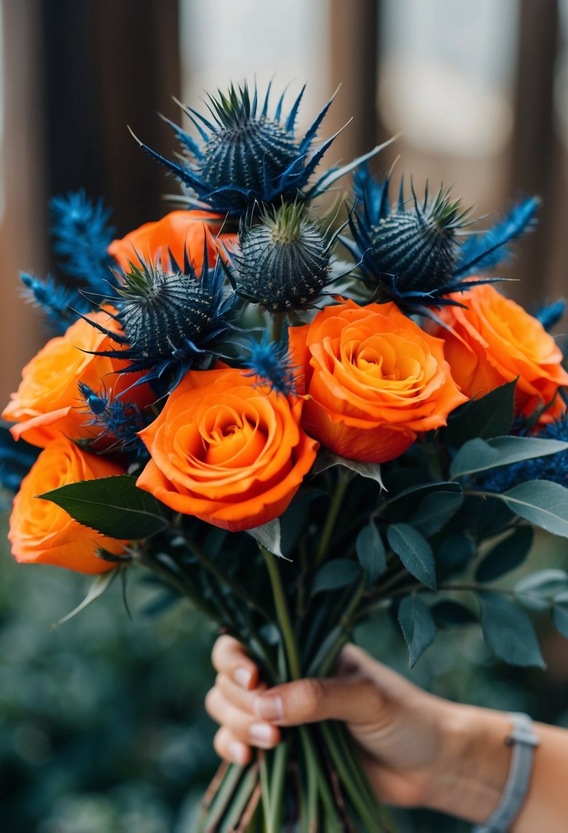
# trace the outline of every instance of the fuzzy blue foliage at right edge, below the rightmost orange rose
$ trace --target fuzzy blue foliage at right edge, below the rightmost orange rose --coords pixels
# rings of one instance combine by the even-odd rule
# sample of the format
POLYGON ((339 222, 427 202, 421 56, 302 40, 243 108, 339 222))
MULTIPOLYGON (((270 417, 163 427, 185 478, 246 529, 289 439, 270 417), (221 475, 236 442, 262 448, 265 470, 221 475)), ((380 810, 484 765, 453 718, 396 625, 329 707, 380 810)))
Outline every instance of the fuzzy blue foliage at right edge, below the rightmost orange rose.
MULTIPOLYGON (((538 437, 540 440, 568 442, 568 416, 549 422, 538 437)), ((568 486, 568 451, 501 466, 483 482, 483 488, 501 493, 528 480, 551 480, 568 486)))

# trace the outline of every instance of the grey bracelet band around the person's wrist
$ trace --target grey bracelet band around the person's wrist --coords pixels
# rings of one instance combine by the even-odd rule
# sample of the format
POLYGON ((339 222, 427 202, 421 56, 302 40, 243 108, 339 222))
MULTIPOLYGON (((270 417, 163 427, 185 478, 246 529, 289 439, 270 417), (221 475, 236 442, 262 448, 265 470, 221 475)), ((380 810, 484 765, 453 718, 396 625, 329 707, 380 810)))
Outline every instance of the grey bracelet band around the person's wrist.
POLYGON ((505 741, 513 747, 509 777, 496 811, 485 824, 474 827, 472 833, 506 833, 526 799, 535 746, 541 741, 532 731, 532 721, 528 715, 511 713, 509 717, 513 724, 513 731, 505 741))

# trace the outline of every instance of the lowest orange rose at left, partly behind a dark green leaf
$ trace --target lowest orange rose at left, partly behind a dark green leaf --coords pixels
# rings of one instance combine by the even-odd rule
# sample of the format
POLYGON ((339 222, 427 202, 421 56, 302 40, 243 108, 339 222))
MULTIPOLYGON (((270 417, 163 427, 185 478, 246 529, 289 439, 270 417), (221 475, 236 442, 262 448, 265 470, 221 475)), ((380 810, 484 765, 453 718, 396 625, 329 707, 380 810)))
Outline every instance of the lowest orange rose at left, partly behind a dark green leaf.
POLYGON ((14 498, 8 539, 16 561, 54 564, 86 573, 112 570, 115 565, 99 558, 97 550, 102 548, 119 555, 125 541, 107 538, 82 526, 60 506, 37 496, 68 483, 118 474, 124 474, 121 466, 80 451, 63 436, 50 443, 37 457, 14 498))

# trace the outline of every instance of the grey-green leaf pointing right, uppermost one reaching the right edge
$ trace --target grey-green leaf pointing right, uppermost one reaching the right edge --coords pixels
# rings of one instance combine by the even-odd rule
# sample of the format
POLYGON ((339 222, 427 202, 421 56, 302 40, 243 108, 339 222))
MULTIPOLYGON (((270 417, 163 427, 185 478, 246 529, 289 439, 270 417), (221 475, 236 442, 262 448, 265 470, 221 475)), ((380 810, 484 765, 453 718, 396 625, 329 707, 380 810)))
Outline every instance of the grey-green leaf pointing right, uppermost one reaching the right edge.
POLYGON ((451 461, 452 477, 465 477, 477 471, 508 466, 521 460, 566 451, 568 442, 539 440, 535 436, 496 436, 492 440, 469 440, 451 461))

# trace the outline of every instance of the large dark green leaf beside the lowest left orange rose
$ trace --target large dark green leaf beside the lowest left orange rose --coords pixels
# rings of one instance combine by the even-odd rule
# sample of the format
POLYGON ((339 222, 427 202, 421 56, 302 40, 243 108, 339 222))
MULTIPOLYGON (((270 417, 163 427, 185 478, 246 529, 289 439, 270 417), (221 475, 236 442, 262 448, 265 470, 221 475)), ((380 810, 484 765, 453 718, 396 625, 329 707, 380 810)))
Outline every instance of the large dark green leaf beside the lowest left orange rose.
POLYGON ((112 538, 137 541, 167 526, 166 507, 148 491, 138 489, 136 477, 129 475, 70 483, 39 497, 61 506, 83 526, 112 538))

